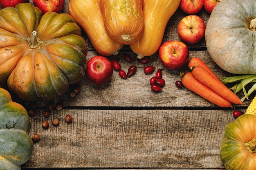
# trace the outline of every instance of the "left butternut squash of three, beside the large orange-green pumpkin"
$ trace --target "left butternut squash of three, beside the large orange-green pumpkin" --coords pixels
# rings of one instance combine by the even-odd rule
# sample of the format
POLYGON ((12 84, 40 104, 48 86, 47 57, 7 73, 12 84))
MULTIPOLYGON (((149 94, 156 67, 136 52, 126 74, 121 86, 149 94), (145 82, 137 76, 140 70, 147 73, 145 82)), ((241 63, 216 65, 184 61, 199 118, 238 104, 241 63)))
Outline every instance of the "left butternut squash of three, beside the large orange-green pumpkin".
POLYGON ((68 12, 85 31, 97 53, 103 56, 119 53, 123 44, 113 41, 106 33, 101 0, 70 0, 68 12))

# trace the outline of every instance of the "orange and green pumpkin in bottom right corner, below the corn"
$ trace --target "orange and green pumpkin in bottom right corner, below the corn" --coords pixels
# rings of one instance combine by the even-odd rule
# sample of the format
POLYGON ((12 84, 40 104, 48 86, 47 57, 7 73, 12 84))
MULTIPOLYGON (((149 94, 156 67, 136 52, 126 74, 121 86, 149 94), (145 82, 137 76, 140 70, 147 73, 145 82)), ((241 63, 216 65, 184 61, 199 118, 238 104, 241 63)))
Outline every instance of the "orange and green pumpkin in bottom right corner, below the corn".
MULTIPOLYGON (((256 170, 256 152, 250 153, 245 146, 255 142, 255 139, 255 115, 241 115, 225 126, 220 142, 220 158, 226 170, 256 170)), ((255 149, 255 146, 252 148, 255 149)))

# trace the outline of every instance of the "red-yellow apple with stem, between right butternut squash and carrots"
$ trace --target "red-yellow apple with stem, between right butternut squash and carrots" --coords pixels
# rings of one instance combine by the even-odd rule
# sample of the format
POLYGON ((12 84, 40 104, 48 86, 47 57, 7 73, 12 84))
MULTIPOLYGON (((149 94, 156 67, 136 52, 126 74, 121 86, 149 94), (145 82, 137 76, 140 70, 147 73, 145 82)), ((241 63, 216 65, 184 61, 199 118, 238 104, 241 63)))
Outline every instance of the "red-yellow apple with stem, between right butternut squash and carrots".
POLYGON ((167 41, 159 48, 159 58, 166 68, 176 70, 189 60, 189 48, 180 41, 167 41))

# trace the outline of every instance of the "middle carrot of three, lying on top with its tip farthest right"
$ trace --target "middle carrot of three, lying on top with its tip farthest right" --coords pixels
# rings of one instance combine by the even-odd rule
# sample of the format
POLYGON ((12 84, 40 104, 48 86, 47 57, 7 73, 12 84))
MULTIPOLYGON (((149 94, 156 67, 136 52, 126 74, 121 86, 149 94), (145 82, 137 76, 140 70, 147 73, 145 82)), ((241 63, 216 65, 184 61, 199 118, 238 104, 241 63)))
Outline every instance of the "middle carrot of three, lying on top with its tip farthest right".
POLYGON ((211 73, 209 73, 202 66, 195 66, 191 73, 193 76, 198 79, 201 83, 211 88, 213 91, 227 99, 229 102, 234 104, 243 104, 240 98, 233 93, 225 84, 215 79, 211 73))

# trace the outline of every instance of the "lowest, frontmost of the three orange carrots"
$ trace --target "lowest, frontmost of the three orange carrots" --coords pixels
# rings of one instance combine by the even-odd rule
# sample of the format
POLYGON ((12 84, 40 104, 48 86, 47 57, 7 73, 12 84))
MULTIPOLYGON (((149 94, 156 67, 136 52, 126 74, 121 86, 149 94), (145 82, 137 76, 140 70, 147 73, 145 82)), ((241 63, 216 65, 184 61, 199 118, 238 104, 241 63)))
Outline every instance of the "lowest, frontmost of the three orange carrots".
POLYGON ((188 72, 183 75, 181 79, 182 84, 188 88, 189 90, 195 92, 196 94, 204 97, 209 102, 216 104, 217 106, 227 108, 231 107, 232 104, 224 97, 217 94, 211 88, 207 87, 206 85, 202 84, 198 79, 196 79, 191 72, 188 72))

